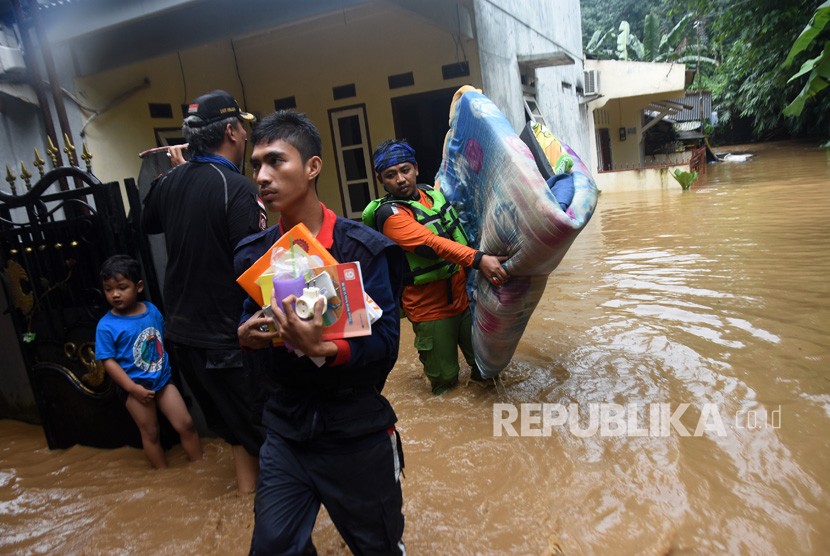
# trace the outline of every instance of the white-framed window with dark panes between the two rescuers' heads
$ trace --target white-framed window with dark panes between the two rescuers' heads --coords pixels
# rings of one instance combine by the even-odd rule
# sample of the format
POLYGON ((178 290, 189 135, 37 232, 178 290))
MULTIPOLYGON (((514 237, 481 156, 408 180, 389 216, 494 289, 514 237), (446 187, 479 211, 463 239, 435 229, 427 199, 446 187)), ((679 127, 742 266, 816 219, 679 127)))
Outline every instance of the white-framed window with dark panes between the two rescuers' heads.
POLYGON ((365 106, 329 111, 331 136, 337 155, 337 174, 343 199, 343 214, 360 218, 369 201, 377 196, 372 174, 369 131, 365 106))

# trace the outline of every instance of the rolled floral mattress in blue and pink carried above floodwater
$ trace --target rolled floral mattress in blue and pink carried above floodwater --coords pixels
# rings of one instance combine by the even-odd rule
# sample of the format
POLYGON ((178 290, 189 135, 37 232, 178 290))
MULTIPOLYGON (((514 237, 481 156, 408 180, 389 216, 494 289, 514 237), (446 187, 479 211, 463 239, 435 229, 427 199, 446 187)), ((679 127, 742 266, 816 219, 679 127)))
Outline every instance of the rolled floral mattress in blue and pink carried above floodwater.
MULTIPOLYGON (((534 150, 551 168, 569 155, 574 197, 559 206, 533 154, 496 105, 472 87, 459 89, 450 108, 436 187, 458 211, 473 247, 507 255, 510 281, 474 280, 473 347, 486 378, 496 377, 516 351, 547 284, 596 208, 597 188, 579 157, 542 126, 532 129, 534 150)), ((569 166, 569 164, 568 164, 569 166)), ((558 165, 561 167, 561 164, 558 165)))

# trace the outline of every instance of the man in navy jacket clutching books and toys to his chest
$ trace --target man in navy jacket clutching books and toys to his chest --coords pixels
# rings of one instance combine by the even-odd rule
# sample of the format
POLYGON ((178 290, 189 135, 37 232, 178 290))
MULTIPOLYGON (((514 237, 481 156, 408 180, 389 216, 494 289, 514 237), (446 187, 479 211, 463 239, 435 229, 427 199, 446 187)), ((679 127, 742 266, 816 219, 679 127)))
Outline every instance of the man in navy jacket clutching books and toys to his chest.
POLYGON ((397 417, 380 393, 398 356, 401 250, 320 202, 315 185, 322 142, 304 114, 271 114, 254 129, 252 142, 254 180, 268 209, 280 212, 280 222, 240 242, 237 274, 303 223, 335 260, 360 263, 364 289, 382 315, 370 335, 324 340, 322 300, 311 319, 296 314, 293 295, 271 297, 273 318, 246 300, 239 341, 256 350, 273 384, 263 414, 267 437, 260 450, 251 553, 312 553, 311 532, 322 503, 353 553, 403 554, 403 453, 397 417), (274 347, 277 337, 295 352, 274 347), (323 358, 323 365, 312 358, 323 358))

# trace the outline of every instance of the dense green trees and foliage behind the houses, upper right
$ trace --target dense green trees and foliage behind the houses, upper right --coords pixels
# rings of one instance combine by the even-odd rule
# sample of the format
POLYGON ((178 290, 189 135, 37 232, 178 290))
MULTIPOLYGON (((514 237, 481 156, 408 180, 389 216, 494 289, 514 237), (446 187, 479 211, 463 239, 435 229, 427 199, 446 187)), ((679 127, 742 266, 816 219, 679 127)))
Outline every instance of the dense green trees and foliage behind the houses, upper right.
POLYGON ((582 0, 581 5, 583 33, 591 38, 587 53, 676 60, 698 69, 694 87, 712 91, 724 128, 745 123, 755 139, 830 133, 830 95, 815 94, 830 82, 830 25, 825 25, 830 16, 819 9, 827 0, 582 0), (666 43, 655 48, 657 35, 666 43), (698 64, 707 61, 717 64, 698 64), (801 68, 795 75, 791 64, 801 68), (784 109, 794 99, 801 112, 790 108, 787 117, 784 109))

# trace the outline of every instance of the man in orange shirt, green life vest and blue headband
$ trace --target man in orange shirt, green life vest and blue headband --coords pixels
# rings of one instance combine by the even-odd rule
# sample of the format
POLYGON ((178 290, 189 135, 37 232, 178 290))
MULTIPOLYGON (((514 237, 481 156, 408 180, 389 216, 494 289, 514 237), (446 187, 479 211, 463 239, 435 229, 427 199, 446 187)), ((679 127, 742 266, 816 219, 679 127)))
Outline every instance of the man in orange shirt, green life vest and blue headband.
POLYGON ((415 150, 406 141, 385 141, 373 155, 374 169, 388 195, 369 203, 363 222, 406 251, 404 314, 415 331, 415 348, 433 394, 458 383, 458 347, 481 380, 472 345, 467 273, 473 268, 493 284, 509 278, 505 258, 467 245, 455 209, 440 191, 417 183, 415 150))

